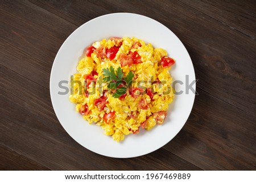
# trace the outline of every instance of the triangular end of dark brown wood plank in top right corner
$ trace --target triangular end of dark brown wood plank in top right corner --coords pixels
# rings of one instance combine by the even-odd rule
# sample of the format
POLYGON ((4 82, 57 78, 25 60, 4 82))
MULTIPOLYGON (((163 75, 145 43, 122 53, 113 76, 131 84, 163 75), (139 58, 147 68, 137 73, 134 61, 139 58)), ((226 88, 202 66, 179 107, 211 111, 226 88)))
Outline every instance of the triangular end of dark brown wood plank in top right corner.
POLYGON ((256 3, 246 1, 180 0, 188 6, 256 39, 256 3))

